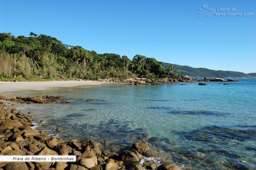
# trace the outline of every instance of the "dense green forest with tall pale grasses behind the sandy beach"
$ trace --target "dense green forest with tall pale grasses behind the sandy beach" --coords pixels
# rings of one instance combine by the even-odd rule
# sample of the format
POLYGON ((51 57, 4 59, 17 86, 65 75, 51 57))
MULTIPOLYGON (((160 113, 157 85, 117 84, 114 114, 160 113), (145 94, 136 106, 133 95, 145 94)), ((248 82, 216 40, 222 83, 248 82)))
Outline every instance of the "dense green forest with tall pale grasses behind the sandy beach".
POLYGON ((155 58, 114 53, 98 54, 81 46, 63 44, 48 35, 30 37, 0 33, 0 79, 70 80, 177 77, 173 65, 163 67, 155 58))

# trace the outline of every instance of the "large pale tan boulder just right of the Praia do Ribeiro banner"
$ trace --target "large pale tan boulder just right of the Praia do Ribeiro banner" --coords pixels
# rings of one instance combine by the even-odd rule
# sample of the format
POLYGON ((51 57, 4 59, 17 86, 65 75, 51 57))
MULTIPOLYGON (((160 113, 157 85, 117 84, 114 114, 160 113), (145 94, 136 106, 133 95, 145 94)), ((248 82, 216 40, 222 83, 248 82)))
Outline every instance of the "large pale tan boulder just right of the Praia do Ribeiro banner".
POLYGON ((78 157, 77 161, 87 169, 94 167, 98 164, 97 157, 94 155, 94 152, 87 148, 81 156, 78 157))

